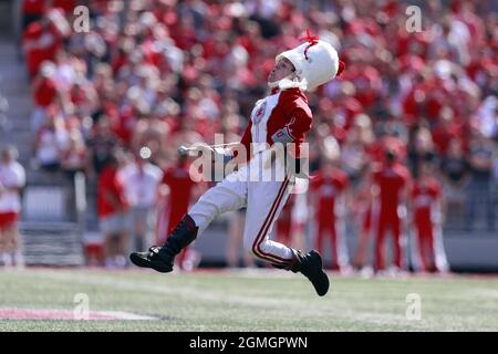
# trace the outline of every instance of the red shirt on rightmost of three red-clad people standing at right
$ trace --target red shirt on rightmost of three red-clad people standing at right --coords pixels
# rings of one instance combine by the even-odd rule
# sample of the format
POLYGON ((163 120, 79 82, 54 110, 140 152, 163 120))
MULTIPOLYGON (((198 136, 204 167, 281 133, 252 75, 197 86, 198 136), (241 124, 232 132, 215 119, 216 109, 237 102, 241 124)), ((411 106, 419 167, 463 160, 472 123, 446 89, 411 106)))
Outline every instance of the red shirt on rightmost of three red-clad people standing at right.
POLYGON ((430 178, 425 185, 416 183, 412 189, 414 220, 415 222, 427 222, 432 220, 434 204, 440 198, 439 183, 430 178))

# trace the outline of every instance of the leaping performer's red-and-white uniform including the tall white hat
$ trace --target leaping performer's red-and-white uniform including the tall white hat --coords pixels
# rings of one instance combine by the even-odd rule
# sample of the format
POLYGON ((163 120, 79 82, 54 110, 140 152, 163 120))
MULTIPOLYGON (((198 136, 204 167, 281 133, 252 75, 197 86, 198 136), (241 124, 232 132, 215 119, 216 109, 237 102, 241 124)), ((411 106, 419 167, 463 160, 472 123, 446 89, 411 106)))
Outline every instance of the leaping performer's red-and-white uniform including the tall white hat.
MULTIPOLYGON (((247 150, 250 150, 251 143, 294 143, 294 156, 301 157, 301 143, 312 122, 303 90, 318 87, 344 69, 336 51, 329 43, 318 40, 309 32, 305 39, 307 43, 276 58, 277 61, 282 58, 290 61, 294 73, 270 83, 274 91, 280 91, 256 103, 241 139, 247 150)), ((245 249, 264 261, 286 268, 294 260, 293 250, 270 240, 269 235, 293 188, 295 177, 287 174, 283 162, 277 159, 277 168, 273 169, 277 170, 277 177, 284 171, 282 179, 249 181, 247 178, 251 174, 261 174, 268 156, 268 149, 256 149, 252 156, 248 155, 249 164, 208 190, 188 215, 198 227, 197 235, 200 235, 218 215, 247 207, 245 249)))

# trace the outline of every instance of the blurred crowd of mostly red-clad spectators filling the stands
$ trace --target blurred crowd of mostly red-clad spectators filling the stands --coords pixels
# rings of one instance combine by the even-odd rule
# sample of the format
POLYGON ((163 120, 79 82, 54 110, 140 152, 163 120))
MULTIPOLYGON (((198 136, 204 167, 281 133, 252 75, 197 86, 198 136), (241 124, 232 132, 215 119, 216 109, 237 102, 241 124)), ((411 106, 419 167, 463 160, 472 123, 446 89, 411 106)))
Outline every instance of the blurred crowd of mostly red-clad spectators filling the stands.
MULTIPOLYGON (((355 218, 372 204, 364 196, 372 195, 365 189, 375 184, 375 164, 394 156, 415 185, 424 174, 440 184, 455 222, 471 230, 483 210, 492 231, 497 9, 492 1, 411 4, 421 6, 421 31, 407 31, 408 4, 391 0, 24 0, 22 48, 35 104, 37 163, 50 173, 83 171, 114 190, 111 202, 98 204, 104 219, 106 212, 117 216, 103 230, 124 231, 120 210, 135 208, 135 218, 144 220, 157 207, 154 196, 168 195, 151 188, 176 176, 165 171, 186 168, 179 145, 212 144, 215 133, 226 142, 240 138, 255 102, 268 94, 274 56, 301 43, 310 29, 346 65, 340 77, 308 94, 311 173, 323 174, 333 160, 349 180, 347 209, 355 218), (73 30, 77 4, 90 9, 89 32, 73 30), (127 169, 121 178, 133 178, 143 164, 151 178, 143 191, 147 205, 122 200, 114 175, 127 169)), ((193 198, 180 197, 187 205, 193 198)), ((162 222, 146 223, 160 229, 162 222)), ((106 249, 124 252, 120 242, 106 249)))

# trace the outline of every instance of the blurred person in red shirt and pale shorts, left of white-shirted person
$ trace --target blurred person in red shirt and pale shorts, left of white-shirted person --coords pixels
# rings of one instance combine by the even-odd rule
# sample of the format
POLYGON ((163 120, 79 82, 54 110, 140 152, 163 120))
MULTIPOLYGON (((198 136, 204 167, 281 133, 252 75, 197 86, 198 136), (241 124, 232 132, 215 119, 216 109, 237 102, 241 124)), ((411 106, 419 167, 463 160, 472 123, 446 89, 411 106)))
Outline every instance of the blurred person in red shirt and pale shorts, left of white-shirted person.
POLYGON ((123 152, 114 150, 98 176, 97 208, 101 231, 104 236, 106 267, 125 267, 128 250, 127 212, 124 181, 120 168, 124 165, 123 152))

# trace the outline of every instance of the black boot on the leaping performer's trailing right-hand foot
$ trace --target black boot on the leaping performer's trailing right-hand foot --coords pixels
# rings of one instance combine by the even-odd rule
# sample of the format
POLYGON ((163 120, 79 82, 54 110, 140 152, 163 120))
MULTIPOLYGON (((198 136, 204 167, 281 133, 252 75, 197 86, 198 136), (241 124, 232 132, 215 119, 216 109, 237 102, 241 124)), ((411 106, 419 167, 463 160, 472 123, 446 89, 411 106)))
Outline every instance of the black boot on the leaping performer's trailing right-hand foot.
MULTIPOLYGON (((292 250, 292 249, 291 249, 292 250)), ((273 264, 277 268, 283 268, 294 273, 301 272, 307 277, 314 287, 314 290, 320 296, 323 296, 329 291, 329 277, 322 270, 322 257, 315 250, 308 254, 301 251, 292 250, 292 261, 289 264, 273 264)))

